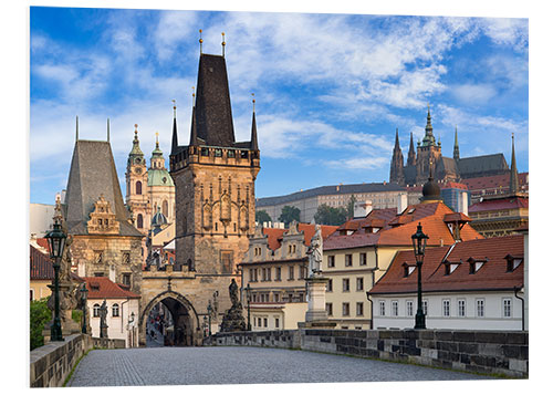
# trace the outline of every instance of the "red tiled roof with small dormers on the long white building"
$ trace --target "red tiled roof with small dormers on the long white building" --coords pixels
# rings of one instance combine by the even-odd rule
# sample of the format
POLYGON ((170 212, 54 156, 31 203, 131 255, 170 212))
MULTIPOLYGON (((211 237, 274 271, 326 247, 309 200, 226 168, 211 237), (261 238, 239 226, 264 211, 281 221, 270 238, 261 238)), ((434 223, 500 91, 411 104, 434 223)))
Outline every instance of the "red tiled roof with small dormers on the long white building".
MULTIPOLYGON (((505 256, 524 257, 523 236, 507 236, 489 239, 469 240, 456 243, 449 256, 450 246, 427 249, 422 263, 422 292, 440 291, 491 291, 522 287, 523 263, 512 272, 507 271, 505 256), (446 276, 447 262, 460 263, 446 276), (476 273, 470 274, 469 258, 487 259, 476 273)), ((386 273, 369 291, 372 294, 415 293, 417 292, 416 270, 404 277, 404 263, 416 264, 413 251, 399 251, 386 273)))

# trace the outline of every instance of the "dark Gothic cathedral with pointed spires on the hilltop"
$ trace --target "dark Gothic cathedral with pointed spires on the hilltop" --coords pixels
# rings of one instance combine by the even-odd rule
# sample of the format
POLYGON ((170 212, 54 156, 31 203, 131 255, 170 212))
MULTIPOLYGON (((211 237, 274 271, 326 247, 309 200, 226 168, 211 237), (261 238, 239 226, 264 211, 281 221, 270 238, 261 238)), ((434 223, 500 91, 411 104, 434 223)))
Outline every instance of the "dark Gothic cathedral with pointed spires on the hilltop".
POLYGON ((399 146, 398 131, 392 154, 389 181, 401 186, 424 185, 432 171, 434 178, 439 183, 459 183, 466 178, 495 176, 509 174, 510 169, 503 154, 492 154, 462 158, 459 152, 457 128, 455 132, 453 157, 441 154, 441 143, 436 142, 434 135, 430 107, 428 107, 425 137, 417 143, 417 149, 410 135, 407 164, 404 162, 399 146))

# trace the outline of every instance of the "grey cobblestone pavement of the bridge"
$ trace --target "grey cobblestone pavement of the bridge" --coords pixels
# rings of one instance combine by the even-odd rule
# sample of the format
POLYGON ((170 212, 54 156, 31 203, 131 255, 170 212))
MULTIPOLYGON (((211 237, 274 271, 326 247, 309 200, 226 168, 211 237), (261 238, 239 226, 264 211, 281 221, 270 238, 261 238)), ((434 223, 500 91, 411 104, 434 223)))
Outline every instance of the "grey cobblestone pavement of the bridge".
POLYGON ((486 380, 431 367, 247 346, 93 350, 67 386, 486 380))

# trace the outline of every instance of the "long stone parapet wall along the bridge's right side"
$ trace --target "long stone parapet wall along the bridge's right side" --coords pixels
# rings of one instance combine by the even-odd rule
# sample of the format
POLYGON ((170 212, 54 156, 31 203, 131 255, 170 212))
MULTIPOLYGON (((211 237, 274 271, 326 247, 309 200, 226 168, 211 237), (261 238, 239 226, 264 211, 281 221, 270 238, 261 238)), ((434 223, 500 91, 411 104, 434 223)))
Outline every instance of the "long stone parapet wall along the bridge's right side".
POLYGON ((216 345, 258 345, 347 354, 509 377, 528 377, 521 331, 294 330, 213 335, 216 345))

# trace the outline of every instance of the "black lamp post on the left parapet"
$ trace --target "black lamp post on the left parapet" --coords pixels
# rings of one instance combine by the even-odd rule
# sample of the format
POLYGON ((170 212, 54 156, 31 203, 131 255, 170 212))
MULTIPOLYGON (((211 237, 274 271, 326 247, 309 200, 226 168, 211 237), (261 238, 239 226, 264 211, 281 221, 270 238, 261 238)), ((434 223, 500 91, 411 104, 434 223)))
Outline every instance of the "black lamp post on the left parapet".
POLYGON ((49 231, 44 238, 48 239, 50 259, 54 261, 54 320, 50 328, 50 340, 53 342, 62 342, 62 322, 60 320, 60 261, 63 256, 67 236, 63 232, 61 225, 55 221, 54 229, 49 231))

